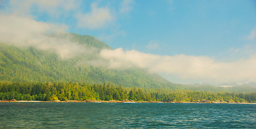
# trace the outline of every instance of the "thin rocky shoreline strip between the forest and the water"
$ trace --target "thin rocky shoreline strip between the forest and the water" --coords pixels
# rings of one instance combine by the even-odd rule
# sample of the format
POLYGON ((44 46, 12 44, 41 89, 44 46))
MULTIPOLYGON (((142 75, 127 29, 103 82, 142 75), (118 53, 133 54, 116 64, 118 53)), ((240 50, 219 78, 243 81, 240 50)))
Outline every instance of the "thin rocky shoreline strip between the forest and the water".
POLYGON ((228 102, 161 102, 161 101, 75 101, 75 100, 69 100, 69 101, 16 101, 16 100, 10 100, 10 101, 0 101, 0 103, 14 103, 14 102, 22 102, 22 103, 28 103, 28 102, 33 102, 33 103, 45 103, 45 102, 55 102, 55 103, 215 103, 215 104, 221 104, 221 103, 226 103, 226 104, 256 104, 256 103, 228 103, 228 102))

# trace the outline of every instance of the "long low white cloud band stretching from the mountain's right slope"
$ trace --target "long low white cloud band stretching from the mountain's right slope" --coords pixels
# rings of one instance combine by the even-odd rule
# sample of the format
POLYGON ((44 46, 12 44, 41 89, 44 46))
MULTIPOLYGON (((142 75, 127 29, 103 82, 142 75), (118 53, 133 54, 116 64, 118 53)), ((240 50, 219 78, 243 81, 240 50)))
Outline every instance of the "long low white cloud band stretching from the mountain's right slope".
POLYGON ((256 55, 248 59, 219 62, 207 56, 160 56, 118 48, 103 49, 100 56, 109 61, 109 68, 126 69, 136 66, 198 82, 239 82, 256 78, 256 55))

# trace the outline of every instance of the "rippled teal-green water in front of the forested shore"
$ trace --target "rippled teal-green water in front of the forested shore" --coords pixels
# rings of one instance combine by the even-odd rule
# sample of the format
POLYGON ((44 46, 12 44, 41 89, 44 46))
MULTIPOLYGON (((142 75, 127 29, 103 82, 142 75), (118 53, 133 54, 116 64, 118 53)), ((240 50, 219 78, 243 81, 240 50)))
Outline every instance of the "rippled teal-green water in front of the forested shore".
POLYGON ((256 104, 0 103, 0 128, 256 128, 256 104))

